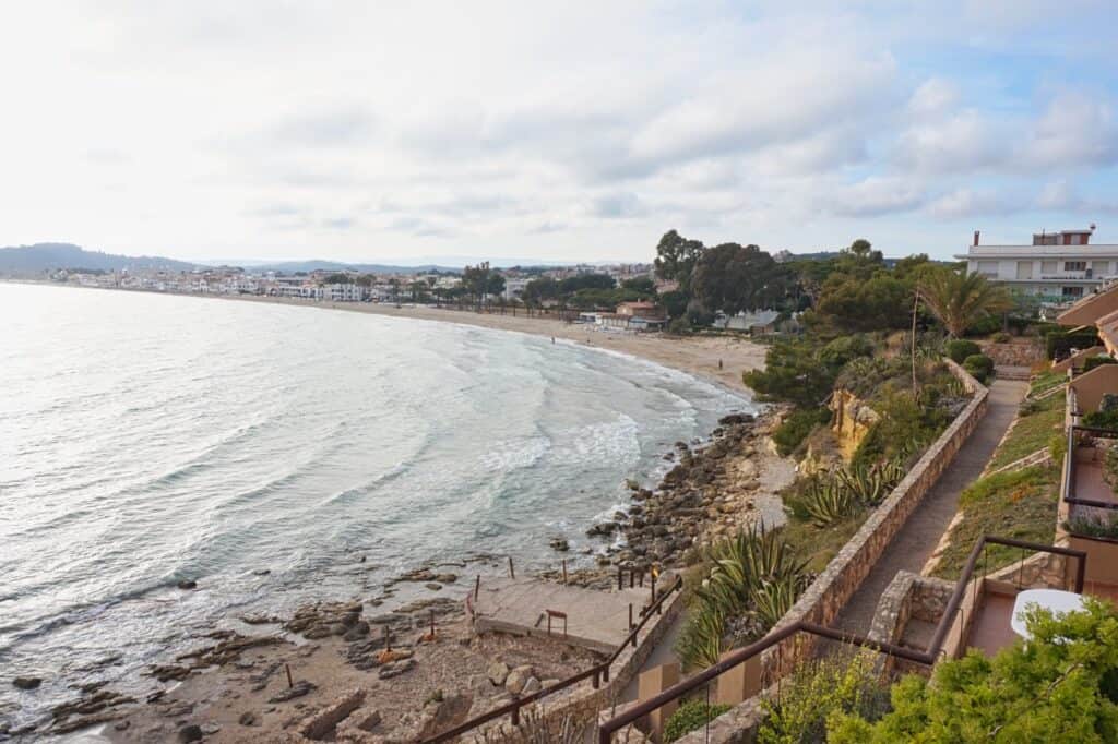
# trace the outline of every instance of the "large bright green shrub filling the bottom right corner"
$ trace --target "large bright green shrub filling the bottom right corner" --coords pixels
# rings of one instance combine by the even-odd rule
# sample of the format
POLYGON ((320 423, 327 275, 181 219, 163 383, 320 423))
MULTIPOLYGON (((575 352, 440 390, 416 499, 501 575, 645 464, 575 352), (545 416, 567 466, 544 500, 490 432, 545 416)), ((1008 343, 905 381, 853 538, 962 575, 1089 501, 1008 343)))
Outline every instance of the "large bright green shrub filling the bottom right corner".
POLYGON ((978 742, 1115 742, 1118 705, 1118 616, 1087 601, 1054 619, 1026 612, 1027 643, 993 659, 972 650, 940 661, 929 681, 910 675, 892 688, 892 710, 879 721, 854 712, 827 718, 830 744, 970 744, 978 742))

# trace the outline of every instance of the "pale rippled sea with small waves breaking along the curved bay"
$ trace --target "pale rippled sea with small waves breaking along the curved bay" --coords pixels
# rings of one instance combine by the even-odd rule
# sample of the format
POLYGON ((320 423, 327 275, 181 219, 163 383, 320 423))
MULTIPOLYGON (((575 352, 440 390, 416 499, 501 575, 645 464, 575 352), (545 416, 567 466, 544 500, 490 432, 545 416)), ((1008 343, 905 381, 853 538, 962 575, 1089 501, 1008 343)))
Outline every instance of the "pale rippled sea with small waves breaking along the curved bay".
POLYGON ((376 598, 421 565, 462 590, 509 556, 593 565, 608 542, 586 530, 627 479, 752 410, 547 337, 0 283, 0 722, 91 683, 143 695, 145 667, 214 628, 376 598))

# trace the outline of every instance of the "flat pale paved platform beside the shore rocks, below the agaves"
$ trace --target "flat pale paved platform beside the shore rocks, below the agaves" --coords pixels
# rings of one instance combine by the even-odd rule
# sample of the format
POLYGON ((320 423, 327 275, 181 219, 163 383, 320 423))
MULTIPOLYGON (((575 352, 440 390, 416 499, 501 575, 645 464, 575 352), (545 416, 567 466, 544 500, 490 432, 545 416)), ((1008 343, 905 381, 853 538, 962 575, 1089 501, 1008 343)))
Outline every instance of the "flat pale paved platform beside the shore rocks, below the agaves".
MULTIPOLYGON (((672 576, 662 576, 670 584, 672 576)), ((664 586, 661 583, 660 586, 664 586)), ((641 621, 641 608, 650 603, 643 589, 599 591, 563 586, 537 579, 482 579, 477 597, 479 631, 498 630, 521 636, 546 636, 548 610, 567 614, 566 642, 610 654, 628 636, 628 608, 633 622, 641 621)), ((563 621, 551 618, 551 633, 562 638, 563 621)))

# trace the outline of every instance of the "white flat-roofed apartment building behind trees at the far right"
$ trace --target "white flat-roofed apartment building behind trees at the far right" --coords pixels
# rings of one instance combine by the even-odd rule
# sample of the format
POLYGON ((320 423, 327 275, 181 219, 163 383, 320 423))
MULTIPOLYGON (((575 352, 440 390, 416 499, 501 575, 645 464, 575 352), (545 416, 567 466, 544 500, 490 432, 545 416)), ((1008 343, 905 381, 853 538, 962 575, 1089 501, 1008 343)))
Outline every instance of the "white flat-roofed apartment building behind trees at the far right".
POLYGON ((1038 232, 1031 246, 983 246, 975 231, 967 252, 967 271, 982 274, 1011 289, 1049 297, 1082 297, 1118 277, 1118 245, 1091 245, 1086 230, 1038 232))

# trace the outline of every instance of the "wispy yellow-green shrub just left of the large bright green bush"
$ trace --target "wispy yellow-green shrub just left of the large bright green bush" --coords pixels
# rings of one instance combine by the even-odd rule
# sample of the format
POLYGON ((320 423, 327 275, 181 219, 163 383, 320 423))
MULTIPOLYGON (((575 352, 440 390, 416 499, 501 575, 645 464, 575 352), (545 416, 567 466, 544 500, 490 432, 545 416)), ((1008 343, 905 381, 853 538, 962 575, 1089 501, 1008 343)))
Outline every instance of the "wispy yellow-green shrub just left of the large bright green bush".
POLYGON ((766 700, 759 744, 826 741, 826 721, 835 713, 866 718, 888 709, 889 687, 875 670, 875 654, 845 649, 800 665, 766 700))

